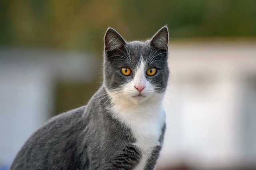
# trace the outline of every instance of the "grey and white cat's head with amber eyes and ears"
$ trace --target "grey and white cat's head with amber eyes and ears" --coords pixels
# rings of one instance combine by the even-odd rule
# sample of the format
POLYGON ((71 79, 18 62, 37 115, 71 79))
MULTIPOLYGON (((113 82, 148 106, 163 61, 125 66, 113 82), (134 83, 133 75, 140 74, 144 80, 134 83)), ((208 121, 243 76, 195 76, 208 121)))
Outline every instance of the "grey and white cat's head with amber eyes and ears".
POLYGON ((168 28, 146 42, 126 42, 112 28, 104 37, 104 86, 115 102, 141 104, 162 99, 168 69, 168 28))

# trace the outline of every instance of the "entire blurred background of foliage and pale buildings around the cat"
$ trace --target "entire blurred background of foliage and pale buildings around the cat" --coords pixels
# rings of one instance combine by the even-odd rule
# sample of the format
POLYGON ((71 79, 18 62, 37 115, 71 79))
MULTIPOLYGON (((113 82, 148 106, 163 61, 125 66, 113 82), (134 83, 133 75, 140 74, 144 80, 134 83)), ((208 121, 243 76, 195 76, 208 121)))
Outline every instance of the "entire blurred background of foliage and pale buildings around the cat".
POLYGON ((1 0, 0 170, 101 86, 108 27, 131 41, 164 25, 171 74, 157 169, 256 169, 255 0, 1 0))

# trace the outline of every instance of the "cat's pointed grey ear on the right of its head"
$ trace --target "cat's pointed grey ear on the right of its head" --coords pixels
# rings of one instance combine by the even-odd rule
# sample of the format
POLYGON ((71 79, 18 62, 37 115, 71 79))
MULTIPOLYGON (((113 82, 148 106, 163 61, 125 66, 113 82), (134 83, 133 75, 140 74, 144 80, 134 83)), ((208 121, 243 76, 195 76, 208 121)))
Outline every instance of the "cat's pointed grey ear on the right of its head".
POLYGON ((168 49, 169 33, 166 26, 162 27, 150 40, 150 45, 156 49, 168 49))

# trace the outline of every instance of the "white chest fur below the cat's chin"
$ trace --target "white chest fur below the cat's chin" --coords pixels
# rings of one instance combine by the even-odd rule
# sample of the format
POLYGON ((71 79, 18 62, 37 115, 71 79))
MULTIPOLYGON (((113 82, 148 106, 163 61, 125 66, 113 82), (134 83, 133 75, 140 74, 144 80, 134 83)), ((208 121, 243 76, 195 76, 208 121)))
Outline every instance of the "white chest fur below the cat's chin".
POLYGON ((158 140, 165 122, 162 102, 130 107, 114 105, 112 109, 114 116, 131 129, 136 139, 134 145, 142 152, 140 163, 134 170, 143 170, 154 147, 160 145, 158 140))

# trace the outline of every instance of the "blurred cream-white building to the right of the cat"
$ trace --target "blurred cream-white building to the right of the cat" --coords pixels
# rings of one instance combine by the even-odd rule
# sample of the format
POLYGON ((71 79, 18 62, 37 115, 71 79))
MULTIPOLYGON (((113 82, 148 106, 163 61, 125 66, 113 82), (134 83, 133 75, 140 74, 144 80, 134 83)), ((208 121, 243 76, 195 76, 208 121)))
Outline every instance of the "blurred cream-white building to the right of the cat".
POLYGON ((256 168, 256 43, 170 44, 159 167, 256 168))

